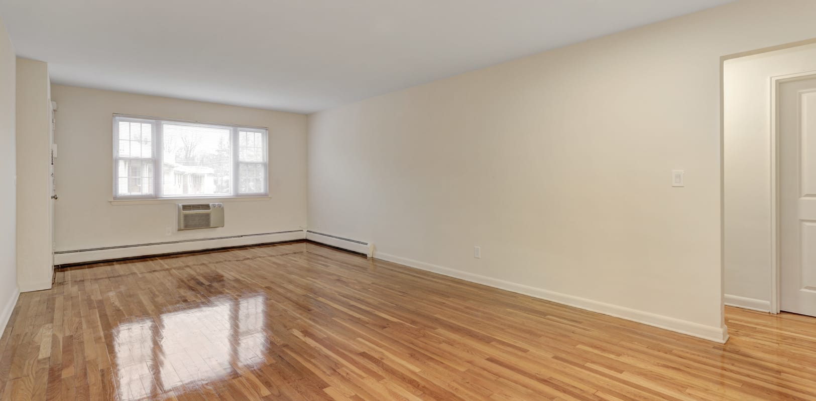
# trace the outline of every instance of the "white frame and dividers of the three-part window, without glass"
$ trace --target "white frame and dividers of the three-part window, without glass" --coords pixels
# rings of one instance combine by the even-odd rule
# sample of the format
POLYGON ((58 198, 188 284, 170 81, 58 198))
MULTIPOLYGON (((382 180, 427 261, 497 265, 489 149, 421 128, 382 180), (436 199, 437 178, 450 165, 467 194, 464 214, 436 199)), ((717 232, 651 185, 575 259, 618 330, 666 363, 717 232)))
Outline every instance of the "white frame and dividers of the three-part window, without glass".
POLYGON ((185 199, 230 199, 230 198, 252 198, 252 197, 267 197, 269 196, 269 130, 266 127, 259 127, 259 126, 237 126, 233 124, 219 124, 215 122, 204 122, 204 121, 189 121, 189 120, 179 120, 175 118, 162 118, 162 117, 148 117, 148 116, 136 116, 131 114, 113 114, 113 180, 112 180, 112 193, 113 193, 113 200, 114 201, 156 201, 156 200, 185 200, 185 199), (119 121, 131 121, 131 122, 140 122, 142 124, 149 123, 152 124, 152 134, 153 134, 153 157, 122 157, 119 156, 119 121), (210 126, 210 127, 217 127, 217 128, 228 128, 230 129, 230 143, 232 146, 232 163, 233 163, 233 176, 232 176, 232 193, 230 194, 213 194, 213 195, 191 195, 191 196, 162 196, 162 130, 163 126, 162 123, 170 122, 175 124, 184 124, 190 126, 210 126), (257 132, 261 133, 264 139, 263 148, 264 148, 264 157, 263 161, 240 161, 239 159, 239 135, 238 132, 257 132), (121 160, 140 160, 140 161, 153 161, 153 194, 152 195, 119 195, 118 194, 118 165, 119 161, 121 160), (263 165, 263 172, 264 178, 261 180, 263 185, 262 192, 252 192, 252 193, 238 193, 238 186, 240 183, 240 167, 242 164, 250 164, 250 165, 263 165))

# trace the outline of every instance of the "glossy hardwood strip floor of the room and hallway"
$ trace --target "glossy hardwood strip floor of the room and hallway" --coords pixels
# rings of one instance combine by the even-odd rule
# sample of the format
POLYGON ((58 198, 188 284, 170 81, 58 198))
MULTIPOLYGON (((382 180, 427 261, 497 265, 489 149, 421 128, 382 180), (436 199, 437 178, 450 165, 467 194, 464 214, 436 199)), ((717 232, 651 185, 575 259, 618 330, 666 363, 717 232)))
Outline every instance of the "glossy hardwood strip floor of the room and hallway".
POLYGON ((816 400, 816 319, 726 345, 296 243, 100 263, 20 295, 2 400, 816 400))

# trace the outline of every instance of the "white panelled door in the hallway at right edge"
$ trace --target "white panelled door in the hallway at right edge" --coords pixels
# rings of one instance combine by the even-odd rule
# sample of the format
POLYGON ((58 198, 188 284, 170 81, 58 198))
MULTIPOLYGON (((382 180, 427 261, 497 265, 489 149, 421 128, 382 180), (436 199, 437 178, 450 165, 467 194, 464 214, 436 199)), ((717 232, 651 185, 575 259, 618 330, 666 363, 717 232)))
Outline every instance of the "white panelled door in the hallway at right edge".
POLYGON ((778 104, 780 309, 816 316, 816 77, 780 84, 778 104))

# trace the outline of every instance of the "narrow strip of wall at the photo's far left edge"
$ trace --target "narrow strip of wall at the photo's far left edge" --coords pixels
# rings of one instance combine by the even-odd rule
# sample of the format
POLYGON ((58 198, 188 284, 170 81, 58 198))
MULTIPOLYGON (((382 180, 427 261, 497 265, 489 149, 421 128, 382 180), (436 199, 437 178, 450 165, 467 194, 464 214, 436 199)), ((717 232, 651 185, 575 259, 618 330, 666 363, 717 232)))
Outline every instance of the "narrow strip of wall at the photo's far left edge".
POLYGON ((6 328, 17 295, 16 68, 14 46, 0 20, 0 333, 6 328))

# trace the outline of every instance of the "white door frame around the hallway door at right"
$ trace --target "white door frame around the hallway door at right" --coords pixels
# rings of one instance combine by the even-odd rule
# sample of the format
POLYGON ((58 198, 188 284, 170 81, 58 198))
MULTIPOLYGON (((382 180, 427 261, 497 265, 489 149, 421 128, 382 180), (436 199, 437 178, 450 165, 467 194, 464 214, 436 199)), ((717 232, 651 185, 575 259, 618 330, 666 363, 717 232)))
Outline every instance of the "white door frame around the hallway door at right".
POLYGON ((782 285, 781 267, 779 266, 779 86, 785 82, 816 78, 816 70, 803 71, 770 77, 770 313, 781 311, 780 297, 782 285))

